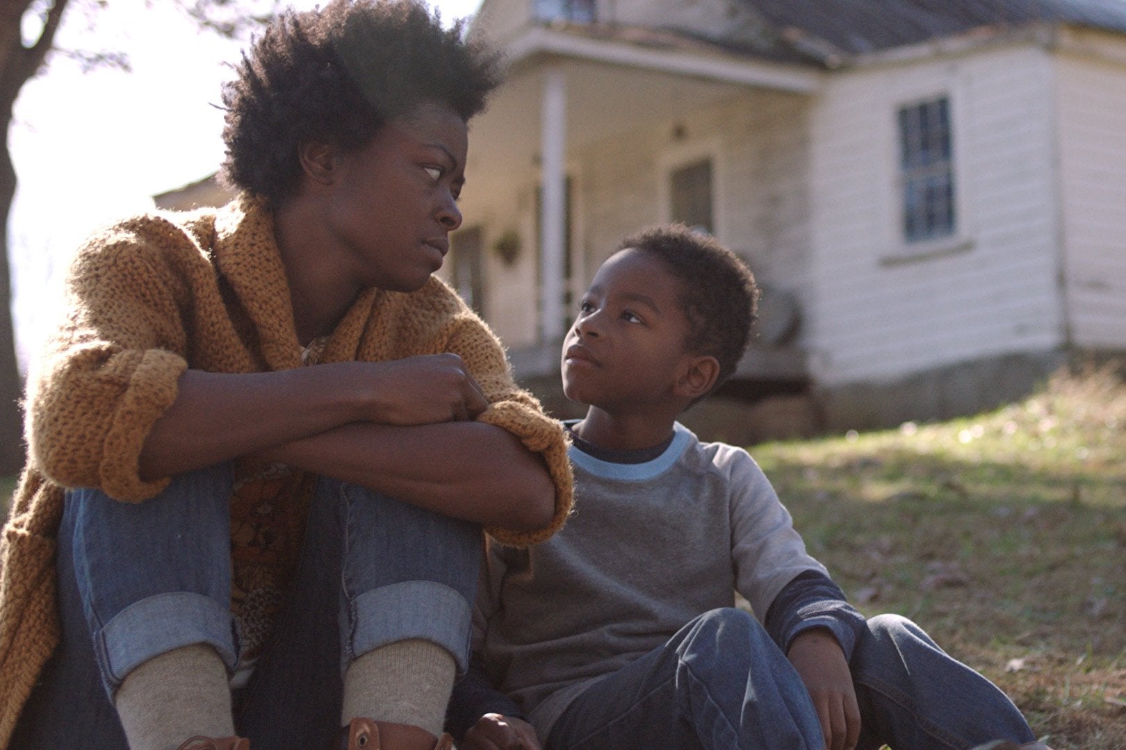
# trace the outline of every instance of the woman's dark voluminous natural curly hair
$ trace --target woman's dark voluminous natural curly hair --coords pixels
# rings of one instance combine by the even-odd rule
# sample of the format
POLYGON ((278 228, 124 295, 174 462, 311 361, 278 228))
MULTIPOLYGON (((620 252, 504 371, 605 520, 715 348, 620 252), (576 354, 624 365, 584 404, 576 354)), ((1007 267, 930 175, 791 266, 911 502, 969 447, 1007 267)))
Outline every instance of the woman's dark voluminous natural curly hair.
POLYGON ((388 120, 426 101, 448 105, 468 121, 500 76, 498 55, 465 42, 463 26, 444 29, 421 0, 287 9, 223 87, 223 181, 276 206, 297 188, 303 143, 363 147, 388 120))

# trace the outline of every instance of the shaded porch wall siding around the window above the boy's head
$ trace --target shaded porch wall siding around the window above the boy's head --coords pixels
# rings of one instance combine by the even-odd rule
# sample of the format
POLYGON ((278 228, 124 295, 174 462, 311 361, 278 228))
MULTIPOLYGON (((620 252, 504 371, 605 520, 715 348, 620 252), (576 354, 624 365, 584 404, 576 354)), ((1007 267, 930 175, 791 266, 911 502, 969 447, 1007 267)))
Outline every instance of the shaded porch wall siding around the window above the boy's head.
POLYGON ((664 218, 661 182, 669 169, 714 154, 716 236, 762 280, 806 296, 808 110, 807 97, 748 92, 586 150, 580 162, 589 274, 624 234, 664 218))

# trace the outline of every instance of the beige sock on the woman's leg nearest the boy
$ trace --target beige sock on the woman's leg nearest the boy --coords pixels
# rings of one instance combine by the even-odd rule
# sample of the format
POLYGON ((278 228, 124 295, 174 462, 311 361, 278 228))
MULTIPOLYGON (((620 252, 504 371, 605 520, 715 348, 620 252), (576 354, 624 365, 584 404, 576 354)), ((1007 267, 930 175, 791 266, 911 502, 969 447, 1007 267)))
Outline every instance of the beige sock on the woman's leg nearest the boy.
POLYGON ((441 734, 457 667, 449 651, 411 639, 368 651, 345 672, 341 724, 352 719, 420 726, 441 734))

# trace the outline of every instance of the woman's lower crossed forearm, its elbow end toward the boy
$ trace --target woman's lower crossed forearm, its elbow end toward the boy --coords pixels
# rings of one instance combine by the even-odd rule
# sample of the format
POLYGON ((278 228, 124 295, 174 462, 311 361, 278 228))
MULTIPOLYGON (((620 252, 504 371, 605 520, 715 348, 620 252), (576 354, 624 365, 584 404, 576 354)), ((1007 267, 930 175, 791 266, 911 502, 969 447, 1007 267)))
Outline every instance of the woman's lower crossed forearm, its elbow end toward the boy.
POLYGON ((484 525, 543 528, 555 512, 555 485, 539 455, 480 422, 349 424, 263 454, 484 525))

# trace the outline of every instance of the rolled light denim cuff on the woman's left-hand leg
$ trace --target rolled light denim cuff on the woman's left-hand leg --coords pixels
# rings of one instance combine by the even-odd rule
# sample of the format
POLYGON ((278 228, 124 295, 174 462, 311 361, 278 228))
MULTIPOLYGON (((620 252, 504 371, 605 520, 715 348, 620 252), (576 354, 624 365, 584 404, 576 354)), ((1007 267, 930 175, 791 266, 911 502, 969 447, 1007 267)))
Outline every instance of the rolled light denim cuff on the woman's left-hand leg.
POLYGON ((110 701, 131 671, 185 645, 214 647, 229 672, 238 662, 230 606, 190 591, 158 594, 131 604, 102 625, 93 641, 110 701))

